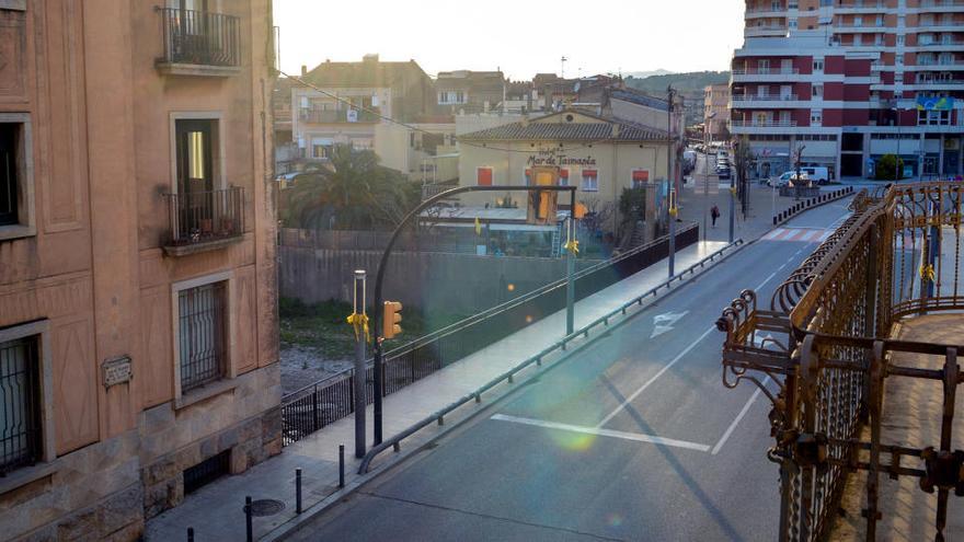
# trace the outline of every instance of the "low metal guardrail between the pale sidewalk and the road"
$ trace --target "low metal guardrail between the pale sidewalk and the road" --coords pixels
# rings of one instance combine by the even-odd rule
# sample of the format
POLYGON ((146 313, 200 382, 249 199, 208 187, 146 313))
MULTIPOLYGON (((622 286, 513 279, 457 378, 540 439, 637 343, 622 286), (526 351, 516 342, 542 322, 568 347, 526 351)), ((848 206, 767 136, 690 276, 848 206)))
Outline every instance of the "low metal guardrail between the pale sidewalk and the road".
POLYGON ((394 451, 400 451, 401 443, 404 439, 411 437, 412 435, 418 433, 420 430, 424 429, 425 427, 428 427, 432 424, 437 423, 438 425, 443 425, 445 423, 445 416, 451 414, 456 410, 460 408, 461 406, 464 406, 466 404, 468 404, 470 402, 474 401, 475 403, 481 403, 483 393, 492 390, 493 388, 501 384, 502 382, 513 383, 513 379, 520 371, 529 368, 533 364, 536 366, 541 366, 542 360, 547 356, 549 356, 550 354, 553 354, 556 351, 564 351, 567 348, 570 343, 572 343, 573 341, 575 341, 579 337, 588 338, 589 333, 594 328, 596 328, 600 325, 608 326, 610 320, 612 320, 619 315, 626 315, 627 311, 631 307, 642 305, 643 301, 645 301, 646 298, 650 298, 650 297, 655 298, 656 296, 658 296, 661 290, 669 289, 672 287, 673 282, 681 281, 687 275, 690 275, 690 276, 695 275, 697 269, 702 269, 703 267, 705 267, 708 264, 714 262, 715 260, 722 258, 727 251, 731 251, 731 250, 733 250, 737 246, 741 246, 743 244, 744 244, 744 241, 742 239, 737 239, 733 243, 731 243, 731 244, 720 249, 719 251, 710 254, 709 256, 701 260, 700 262, 687 267, 681 273, 670 277, 669 279, 667 279, 658 285, 656 285, 655 287, 647 290, 645 293, 638 296, 630 301, 627 301, 626 303, 623 303, 619 308, 608 312, 607 314, 605 314, 602 316, 599 316, 598 319, 594 320, 593 322, 583 326, 582 328, 576 330, 571 335, 567 335, 567 336, 561 338, 560 341, 556 341, 555 343, 553 343, 550 346, 540 350, 535 356, 527 358, 526 360, 524 360, 519 365, 513 367, 512 369, 509 369, 509 370, 503 372, 502 374, 495 377, 494 379, 490 380, 489 382, 486 382, 484 385, 482 385, 478 390, 473 391, 472 393, 463 395, 462 397, 458 399, 454 403, 450 403, 448 406, 445 406, 441 410, 433 413, 432 415, 423 418, 422 420, 412 425, 411 427, 403 430, 402 433, 400 433, 389 439, 386 439, 385 441, 382 441, 378 446, 372 447, 370 450, 368 450, 368 453, 366 453, 365 457, 362 459, 362 464, 358 466, 358 474, 367 473, 369 471, 370 465, 371 465, 371 461, 376 457, 378 457, 379 454, 381 454, 382 452, 388 450, 389 448, 392 448, 394 451))

